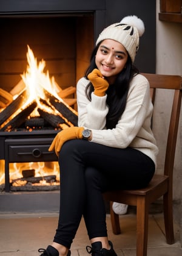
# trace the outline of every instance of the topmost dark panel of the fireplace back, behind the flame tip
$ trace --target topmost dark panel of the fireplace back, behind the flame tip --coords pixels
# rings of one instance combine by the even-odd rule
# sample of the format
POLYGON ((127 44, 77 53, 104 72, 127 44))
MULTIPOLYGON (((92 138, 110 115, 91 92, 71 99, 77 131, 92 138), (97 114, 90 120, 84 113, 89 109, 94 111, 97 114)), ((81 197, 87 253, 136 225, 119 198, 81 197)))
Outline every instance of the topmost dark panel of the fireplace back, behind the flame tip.
POLYGON ((73 18, 2 19, 1 58, 25 59, 27 44, 38 59, 73 57, 74 24, 73 18))

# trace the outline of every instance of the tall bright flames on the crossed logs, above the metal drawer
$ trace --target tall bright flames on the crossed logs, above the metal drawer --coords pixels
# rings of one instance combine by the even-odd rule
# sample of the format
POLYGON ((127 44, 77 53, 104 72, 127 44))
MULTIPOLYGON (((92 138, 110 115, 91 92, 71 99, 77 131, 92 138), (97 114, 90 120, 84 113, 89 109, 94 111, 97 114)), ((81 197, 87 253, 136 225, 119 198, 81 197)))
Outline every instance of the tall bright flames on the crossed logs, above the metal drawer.
MULTIPOLYGON (((68 90, 62 90, 61 87, 59 87, 59 85, 56 83, 55 78, 53 76, 49 76, 48 70, 47 73, 44 73, 45 61, 42 59, 38 63, 37 59, 34 57, 32 49, 30 49, 29 45, 27 47, 27 70, 23 74, 21 74, 22 80, 21 82, 19 82, 19 84, 21 84, 21 91, 18 90, 17 93, 13 94, 13 100, 15 100, 23 91, 25 91, 26 100, 21 105, 21 107, 15 110, 12 116, 9 116, 5 120, 5 122, 0 125, 0 129, 5 127, 13 118, 19 115, 22 110, 25 110, 27 107, 29 107, 29 105, 33 104, 33 102, 36 102, 34 103, 36 104, 36 107, 32 111, 32 113, 30 113, 28 119, 33 117, 39 117, 40 114, 38 112, 38 109, 40 109, 43 112, 60 116, 62 119, 66 120, 66 123, 69 126, 72 126, 72 123, 67 120, 65 116, 62 116, 62 114, 54 107, 53 104, 50 104, 49 96, 47 96, 47 93, 49 93, 50 96, 53 96, 58 102, 64 103, 64 105, 77 116, 78 113, 73 108, 69 107, 69 105, 67 105, 66 102, 63 101, 62 98, 59 96, 62 94, 62 91, 64 91, 64 94, 69 95, 70 91, 76 90, 76 88, 68 87, 68 90)), ((19 87, 18 85, 17 87, 19 87)), ((59 124, 60 129, 65 129, 66 127, 68 126, 64 123, 59 124)), ((9 128, 7 128, 6 131, 10 131, 9 128)))

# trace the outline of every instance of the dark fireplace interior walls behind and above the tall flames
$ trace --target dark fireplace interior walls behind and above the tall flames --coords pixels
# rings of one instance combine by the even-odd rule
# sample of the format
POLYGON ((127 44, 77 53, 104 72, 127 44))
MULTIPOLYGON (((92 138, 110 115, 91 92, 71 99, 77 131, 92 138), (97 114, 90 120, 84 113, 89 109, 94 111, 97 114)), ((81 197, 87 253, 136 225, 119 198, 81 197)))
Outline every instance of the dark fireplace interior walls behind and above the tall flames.
POLYGON ((75 86, 93 49, 93 14, 15 17, 0 18, 0 87, 10 91, 18 84, 27 66, 27 45, 45 60, 62 89, 75 86))

